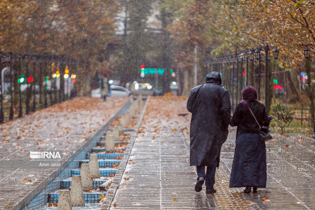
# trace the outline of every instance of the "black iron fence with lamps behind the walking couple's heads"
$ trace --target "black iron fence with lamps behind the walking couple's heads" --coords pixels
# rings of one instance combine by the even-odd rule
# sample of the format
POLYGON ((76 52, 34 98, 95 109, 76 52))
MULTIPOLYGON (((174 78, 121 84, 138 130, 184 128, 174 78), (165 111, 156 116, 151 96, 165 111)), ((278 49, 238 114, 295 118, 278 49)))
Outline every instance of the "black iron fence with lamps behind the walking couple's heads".
MULTIPOLYGON (((271 51, 274 59, 278 59, 279 50, 277 46, 271 47, 266 43, 263 46, 257 46, 256 49, 235 50, 232 55, 206 60, 209 71, 218 71, 221 73, 223 84, 229 90, 232 102, 232 111, 235 105, 242 99, 242 87, 254 86, 254 66, 257 65, 257 92, 258 100, 261 100, 261 61, 265 60, 265 104, 268 108, 268 61, 271 60, 271 51), (245 68, 244 68, 245 65, 245 68), (251 81, 249 84, 249 65, 251 66, 251 81), (245 70, 246 69, 246 70, 245 70)), ((268 111, 268 110, 267 110, 268 111)))

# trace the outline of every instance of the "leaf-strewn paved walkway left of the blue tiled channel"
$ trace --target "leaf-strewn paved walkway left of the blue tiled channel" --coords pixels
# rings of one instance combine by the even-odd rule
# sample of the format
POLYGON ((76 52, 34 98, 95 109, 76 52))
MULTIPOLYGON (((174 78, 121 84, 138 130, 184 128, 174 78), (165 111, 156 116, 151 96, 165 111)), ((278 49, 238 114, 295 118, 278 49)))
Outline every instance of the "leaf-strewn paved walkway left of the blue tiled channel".
MULTIPOLYGON (((79 97, 1 125, 0 164, 29 161, 30 150, 62 150, 63 163, 127 100, 127 97, 109 97, 104 102, 79 97)), ((51 167, 0 168, 0 209, 14 207, 55 170, 51 167), (22 181, 25 179, 27 181, 22 181)), ((37 195, 38 192, 32 193, 37 195)))

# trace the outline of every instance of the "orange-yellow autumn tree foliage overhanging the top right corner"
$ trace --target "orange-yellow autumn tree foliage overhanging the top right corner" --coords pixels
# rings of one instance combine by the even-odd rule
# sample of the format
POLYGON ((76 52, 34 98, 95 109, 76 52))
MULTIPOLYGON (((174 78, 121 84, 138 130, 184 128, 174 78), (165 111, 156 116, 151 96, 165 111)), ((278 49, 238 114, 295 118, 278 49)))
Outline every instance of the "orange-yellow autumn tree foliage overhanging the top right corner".
POLYGON ((304 58, 303 49, 315 42, 315 3, 314 1, 297 0, 241 0, 234 5, 226 5, 224 11, 225 25, 234 38, 243 39, 243 46, 266 43, 280 48, 278 64, 285 69, 294 68, 299 75, 302 68, 309 78, 306 95, 310 104, 310 121, 314 119, 314 75, 311 72, 310 58, 304 58), (240 15, 247 14, 247 15, 240 15))

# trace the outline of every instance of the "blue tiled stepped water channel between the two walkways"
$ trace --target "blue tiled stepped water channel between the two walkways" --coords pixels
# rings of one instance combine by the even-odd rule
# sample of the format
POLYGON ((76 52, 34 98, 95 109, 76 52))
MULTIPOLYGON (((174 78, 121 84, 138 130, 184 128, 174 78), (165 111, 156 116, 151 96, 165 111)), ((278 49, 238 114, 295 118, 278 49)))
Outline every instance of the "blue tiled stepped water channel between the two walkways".
MULTIPOLYGON (((121 110, 118 114, 123 114, 127 108, 129 108, 129 104, 121 110)), ((43 210, 43 209, 57 209, 57 207, 48 207, 47 203, 58 203, 59 192, 60 189, 69 189, 71 186, 71 180, 73 175, 80 175, 80 166, 83 163, 89 163, 89 156, 91 154, 97 154, 99 159, 99 167, 100 167, 100 175, 103 176, 98 179, 94 179, 92 181, 92 187, 100 186, 104 182, 107 181, 106 177, 110 176, 113 173, 117 172, 116 168, 112 168, 113 164, 119 164, 121 160, 116 160, 115 158, 119 156, 123 156, 124 153, 105 153, 105 139, 104 137, 108 127, 111 123, 105 127, 98 136, 96 136, 91 143, 87 147, 83 149, 70 163, 69 165, 62 171, 60 174, 54 178, 40 193, 38 193, 32 200, 29 202, 22 210, 43 210), (104 153, 102 153, 104 152, 104 153)), ((132 129, 125 129, 125 133, 132 133, 132 129)), ((125 138, 125 137, 123 137, 125 138)), ((121 139, 124 140, 124 139, 121 139)), ((115 142, 118 143, 127 143, 126 141, 115 142)), ((121 148, 116 148, 121 149, 121 148)), ((100 204, 97 204, 98 198, 100 194, 106 194, 106 192, 93 192, 93 193, 83 193, 85 203, 87 204, 85 207, 72 207, 72 209, 99 209, 100 204)))

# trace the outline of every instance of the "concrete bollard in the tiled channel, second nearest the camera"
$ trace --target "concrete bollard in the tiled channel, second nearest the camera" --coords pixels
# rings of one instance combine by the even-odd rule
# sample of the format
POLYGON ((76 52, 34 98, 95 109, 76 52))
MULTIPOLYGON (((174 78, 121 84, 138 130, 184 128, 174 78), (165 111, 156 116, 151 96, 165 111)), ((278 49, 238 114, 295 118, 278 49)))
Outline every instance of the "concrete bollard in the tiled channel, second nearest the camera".
POLYGON ((72 176, 70 201, 72 206, 85 206, 80 175, 72 176))

